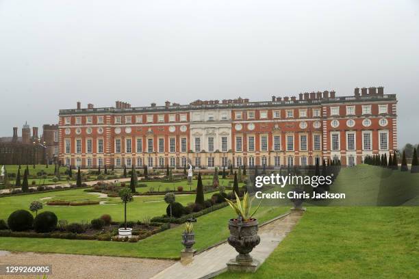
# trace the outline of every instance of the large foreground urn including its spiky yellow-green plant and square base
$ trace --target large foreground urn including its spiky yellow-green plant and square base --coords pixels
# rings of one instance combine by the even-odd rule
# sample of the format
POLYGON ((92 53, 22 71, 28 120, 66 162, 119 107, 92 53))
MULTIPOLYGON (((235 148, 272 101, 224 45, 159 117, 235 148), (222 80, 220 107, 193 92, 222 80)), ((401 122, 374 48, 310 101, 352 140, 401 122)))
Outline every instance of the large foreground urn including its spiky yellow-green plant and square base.
POLYGON ((247 271, 253 272, 259 266, 259 261, 251 257, 250 252, 260 243, 260 237, 257 235, 259 223, 253 215, 259 209, 257 208, 251 213, 251 204, 254 197, 249 198, 249 194, 245 193, 243 200, 236 194, 236 202, 227 200, 229 206, 238 215, 237 218, 229 220, 230 236, 227 239, 229 244, 239 253, 236 258, 231 259, 227 263, 227 267, 231 271, 247 271))

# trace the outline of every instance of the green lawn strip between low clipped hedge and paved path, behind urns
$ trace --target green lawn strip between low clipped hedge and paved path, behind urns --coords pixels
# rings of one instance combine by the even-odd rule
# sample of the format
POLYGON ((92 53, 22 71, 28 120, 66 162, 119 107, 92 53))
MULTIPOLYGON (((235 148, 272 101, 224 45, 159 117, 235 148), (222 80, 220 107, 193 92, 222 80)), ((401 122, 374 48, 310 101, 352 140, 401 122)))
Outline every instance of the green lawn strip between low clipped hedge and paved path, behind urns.
MULTIPOLYGON (((122 209, 122 207, 120 208, 122 209)), ((259 219, 259 222, 265 222, 285 213, 288 209, 289 207, 260 207, 256 217, 259 219)), ((235 214, 229 207, 199 217, 198 222, 194 224, 196 235, 194 248, 202 250, 214 243, 227 239, 229 235, 227 222, 231 217, 235 217, 235 214)), ((138 243, 3 237, 0 238, 0 250, 179 258, 179 253, 182 249, 181 232, 183 229, 184 226, 180 225, 138 243)))

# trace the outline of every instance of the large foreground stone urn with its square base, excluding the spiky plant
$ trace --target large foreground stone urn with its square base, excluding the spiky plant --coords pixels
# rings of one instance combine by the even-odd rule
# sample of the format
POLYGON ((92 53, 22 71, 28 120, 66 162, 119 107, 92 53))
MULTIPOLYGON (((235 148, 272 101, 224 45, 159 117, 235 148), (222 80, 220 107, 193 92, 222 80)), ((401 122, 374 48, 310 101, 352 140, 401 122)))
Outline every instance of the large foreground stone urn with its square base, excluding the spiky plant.
POLYGON ((227 269, 238 272, 255 272, 260 263, 252 258, 250 252, 260 243, 260 237, 257 235, 259 223, 255 219, 247 222, 231 219, 229 230, 230 236, 227 241, 239 254, 227 263, 227 269))

